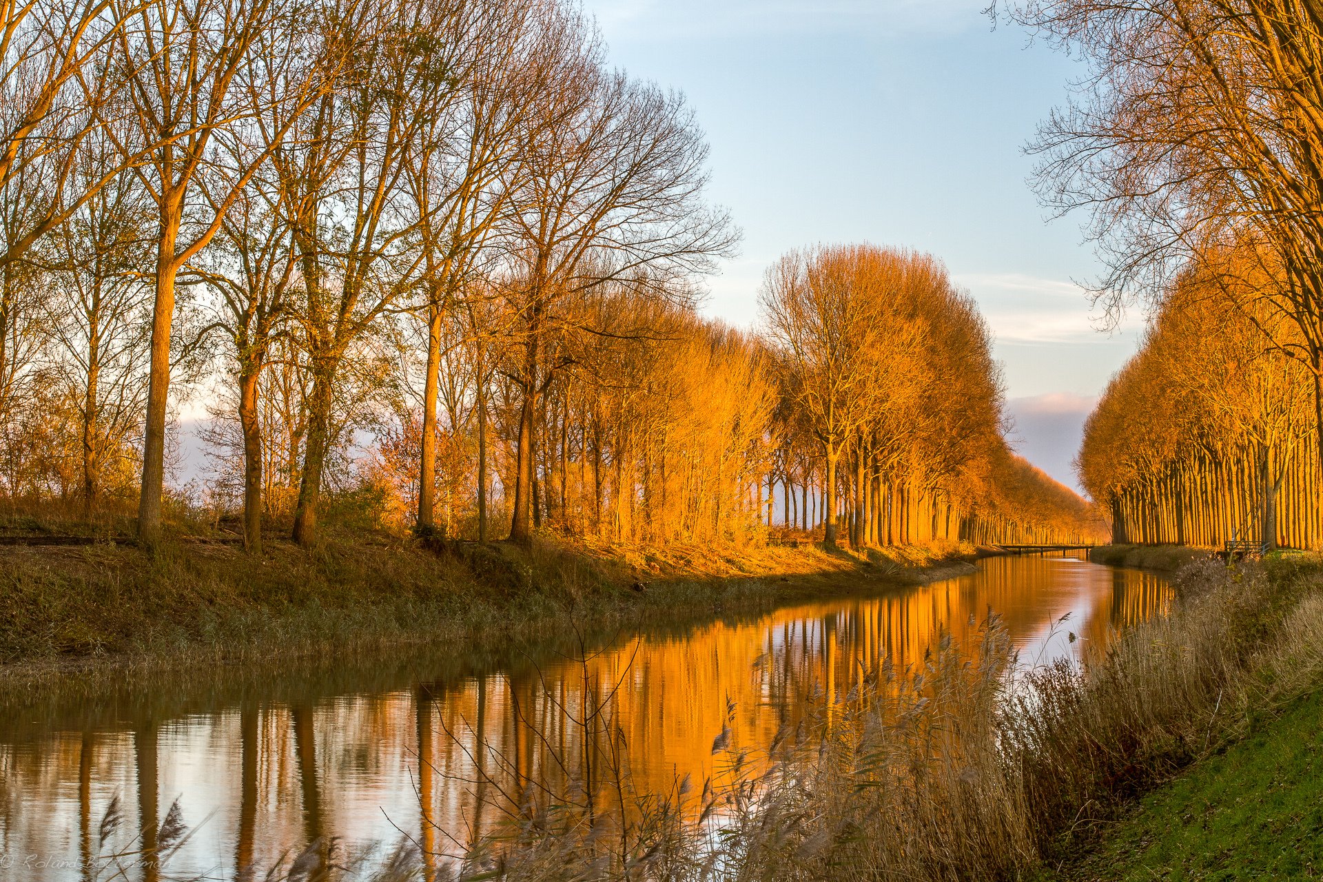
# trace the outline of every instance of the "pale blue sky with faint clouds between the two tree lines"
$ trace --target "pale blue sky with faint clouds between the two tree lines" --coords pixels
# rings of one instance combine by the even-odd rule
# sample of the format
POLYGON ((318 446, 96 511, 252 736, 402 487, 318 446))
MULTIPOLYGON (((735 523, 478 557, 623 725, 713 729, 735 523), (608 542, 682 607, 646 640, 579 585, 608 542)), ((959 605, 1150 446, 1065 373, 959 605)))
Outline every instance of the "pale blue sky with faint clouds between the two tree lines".
POLYGON ((991 26, 988 0, 585 0, 613 63, 684 93, 710 145, 713 202, 741 253, 704 312, 758 320, 785 251, 873 242, 942 258, 996 339, 1011 442, 1076 487, 1084 418, 1142 316, 1101 329, 1082 218, 1049 220, 1027 179, 1039 120, 1077 63, 991 26))

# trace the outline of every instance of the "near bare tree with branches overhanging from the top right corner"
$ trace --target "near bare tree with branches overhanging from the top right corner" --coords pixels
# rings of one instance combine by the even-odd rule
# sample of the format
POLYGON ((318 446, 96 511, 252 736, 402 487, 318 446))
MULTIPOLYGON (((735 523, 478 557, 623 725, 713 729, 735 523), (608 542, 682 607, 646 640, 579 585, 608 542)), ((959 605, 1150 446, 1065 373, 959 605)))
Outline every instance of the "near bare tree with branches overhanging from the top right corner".
MULTIPOLYGON (((1090 65, 1035 149, 1044 201, 1090 213, 1109 263, 1097 295, 1114 315, 1135 296, 1156 303, 1191 261, 1207 270, 1208 255, 1248 246, 1267 270, 1253 275, 1273 279, 1257 299, 1299 329, 1270 339, 1312 373, 1323 440, 1320 9, 1314 0, 1032 0, 1011 16, 1090 65)), ((1249 278, 1224 284, 1244 290, 1249 278)))

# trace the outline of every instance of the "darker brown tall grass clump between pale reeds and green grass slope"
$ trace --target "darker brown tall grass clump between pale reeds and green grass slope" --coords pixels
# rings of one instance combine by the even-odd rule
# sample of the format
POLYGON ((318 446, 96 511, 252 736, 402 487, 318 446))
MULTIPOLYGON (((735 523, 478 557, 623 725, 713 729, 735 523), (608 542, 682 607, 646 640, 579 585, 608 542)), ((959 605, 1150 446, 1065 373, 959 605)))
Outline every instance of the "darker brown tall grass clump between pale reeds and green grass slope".
MULTIPOLYGON (((1291 625, 1314 607, 1303 586, 1259 566, 1199 561, 1176 588, 1168 615, 1118 635, 1082 669, 1028 672, 1004 705, 1003 763, 1021 770, 1040 850, 1069 846, 1126 797, 1241 733, 1279 694, 1265 673, 1301 636, 1319 636, 1291 625)), ((1316 685, 1319 670, 1301 669, 1301 685, 1316 685)))

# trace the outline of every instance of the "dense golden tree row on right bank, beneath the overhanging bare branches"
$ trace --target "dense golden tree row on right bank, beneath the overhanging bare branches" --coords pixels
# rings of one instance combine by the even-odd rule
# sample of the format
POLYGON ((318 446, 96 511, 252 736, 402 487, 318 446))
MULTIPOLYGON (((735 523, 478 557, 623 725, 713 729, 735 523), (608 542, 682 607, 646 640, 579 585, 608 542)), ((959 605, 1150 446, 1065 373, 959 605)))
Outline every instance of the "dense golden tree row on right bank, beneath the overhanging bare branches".
POLYGON ((1310 372, 1267 342, 1299 331, 1225 278, 1174 286, 1089 418, 1080 475, 1117 541, 1320 547, 1310 372))

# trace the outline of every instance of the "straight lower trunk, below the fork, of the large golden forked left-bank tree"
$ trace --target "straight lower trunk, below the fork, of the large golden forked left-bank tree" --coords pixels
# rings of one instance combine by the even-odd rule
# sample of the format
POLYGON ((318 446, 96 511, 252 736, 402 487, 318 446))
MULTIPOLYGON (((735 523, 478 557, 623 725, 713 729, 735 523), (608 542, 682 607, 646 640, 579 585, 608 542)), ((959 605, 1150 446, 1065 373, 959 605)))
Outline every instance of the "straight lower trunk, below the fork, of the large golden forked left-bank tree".
POLYGON ((152 307, 147 424, 143 427, 143 480, 138 499, 138 541, 147 546, 155 545, 161 537, 165 409, 169 403, 169 329, 175 317, 175 243, 179 238, 179 225, 177 213, 163 213, 160 241, 156 245, 156 303, 152 307))

